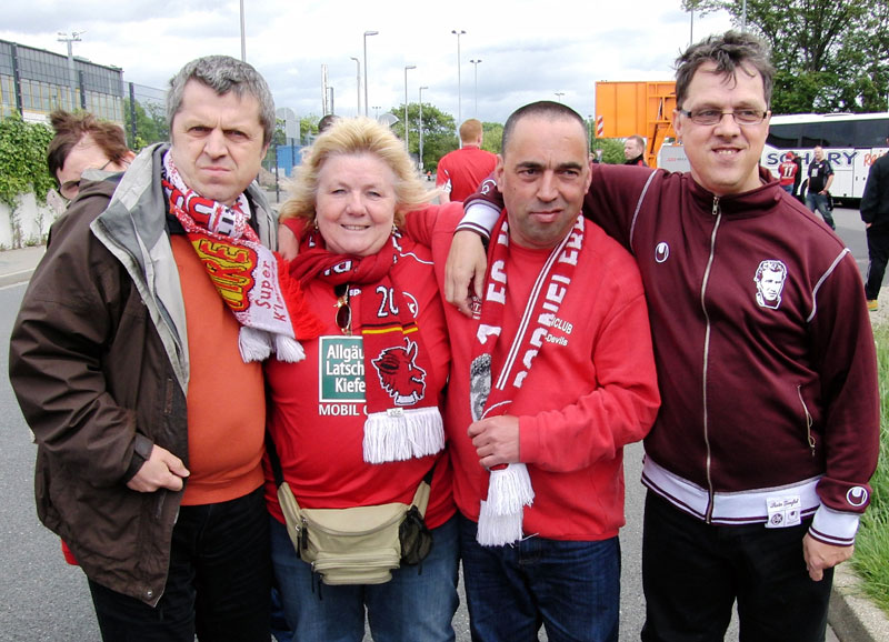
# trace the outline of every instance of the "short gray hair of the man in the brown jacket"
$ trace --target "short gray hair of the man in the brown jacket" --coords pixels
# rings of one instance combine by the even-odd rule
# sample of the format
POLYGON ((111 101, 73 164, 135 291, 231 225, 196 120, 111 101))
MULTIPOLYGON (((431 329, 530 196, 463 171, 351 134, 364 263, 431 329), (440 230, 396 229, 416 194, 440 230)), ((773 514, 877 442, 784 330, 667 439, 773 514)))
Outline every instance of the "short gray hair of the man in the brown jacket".
POLYGON ((167 122, 170 131, 173 118, 182 109, 182 96, 189 80, 206 84, 217 96, 233 91, 238 98, 249 93, 259 102, 259 122, 262 124, 262 143, 271 142, 274 134, 274 99, 266 79, 247 62, 230 56, 206 56, 186 64, 179 73, 170 79, 170 91, 167 93, 167 122))

